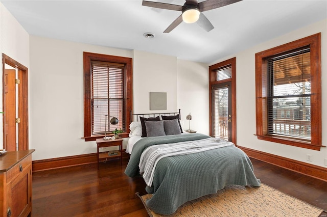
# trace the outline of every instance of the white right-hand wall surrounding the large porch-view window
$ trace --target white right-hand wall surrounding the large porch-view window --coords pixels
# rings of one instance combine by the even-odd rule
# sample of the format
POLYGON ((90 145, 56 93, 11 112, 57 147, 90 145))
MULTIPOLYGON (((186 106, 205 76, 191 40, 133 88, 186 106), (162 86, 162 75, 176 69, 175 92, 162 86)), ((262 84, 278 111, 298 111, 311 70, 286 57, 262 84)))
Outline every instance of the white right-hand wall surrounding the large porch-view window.
POLYGON ((236 57, 238 145, 307 162, 317 166, 327 167, 323 163, 324 158, 327 158, 327 148, 321 148, 320 151, 309 150, 258 140, 256 136, 253 135, 256 133, 254 54, 256 52, 292 42, 319 32, 321 32, 322 145, 327 145, 327 136, 324 133, 327 131, 327 20, 322 20, 308 25, 305 28, 290 32, 281 37, 256 45, 250 49, 214 62, 219 63, 229 58, 236 57), (313 156, 312 162, 306 161, 307 154, 311 154, 313 156))

